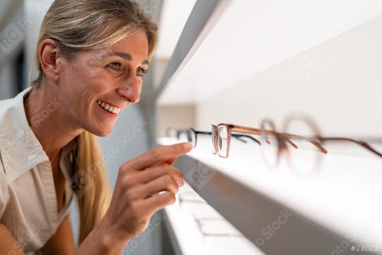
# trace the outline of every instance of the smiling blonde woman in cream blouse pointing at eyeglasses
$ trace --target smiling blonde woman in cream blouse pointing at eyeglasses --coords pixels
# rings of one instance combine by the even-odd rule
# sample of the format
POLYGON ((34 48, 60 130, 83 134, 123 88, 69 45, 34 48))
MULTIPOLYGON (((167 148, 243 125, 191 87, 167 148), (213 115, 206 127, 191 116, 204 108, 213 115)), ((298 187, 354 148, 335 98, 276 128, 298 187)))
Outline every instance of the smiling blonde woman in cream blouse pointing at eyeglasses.
POLYGON ((139 101, 157 26, 129 0, 56 0, 37 42, 40 74, 0 101, 0 254, 120 254, 175 201, 190 143, 122 164, 110 200, 95 135, 139 101), (68 212, 79 205, 75 251, 68 212))

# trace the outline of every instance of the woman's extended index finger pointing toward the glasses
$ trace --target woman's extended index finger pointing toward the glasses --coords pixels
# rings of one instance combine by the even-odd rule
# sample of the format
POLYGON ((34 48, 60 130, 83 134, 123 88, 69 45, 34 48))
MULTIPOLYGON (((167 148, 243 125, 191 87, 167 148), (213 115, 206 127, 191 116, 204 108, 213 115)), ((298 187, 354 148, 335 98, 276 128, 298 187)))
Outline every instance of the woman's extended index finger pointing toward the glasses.
POLYGON ((148 152, 141 154, 141 156, 127 162, 127 164, 132 166, 133 169, 141 170, 149 166, 153 166, 154 164, 161 164, 165 161, 175 162, 177 157, 190 152, 191 149, 192 142, 182 142, 175 145, 154 147, 148 152))

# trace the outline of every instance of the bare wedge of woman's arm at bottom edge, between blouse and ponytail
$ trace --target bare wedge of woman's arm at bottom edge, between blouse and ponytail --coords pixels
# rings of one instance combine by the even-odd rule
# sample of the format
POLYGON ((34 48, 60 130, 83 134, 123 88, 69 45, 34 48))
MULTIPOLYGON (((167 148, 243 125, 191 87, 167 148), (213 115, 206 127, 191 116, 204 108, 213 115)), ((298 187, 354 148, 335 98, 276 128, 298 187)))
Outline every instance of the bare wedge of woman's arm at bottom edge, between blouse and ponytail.
POLYGON ((69 216, 57 228, 56 234, 42 247, 42 254, 74 254, 74 239, 69 216))

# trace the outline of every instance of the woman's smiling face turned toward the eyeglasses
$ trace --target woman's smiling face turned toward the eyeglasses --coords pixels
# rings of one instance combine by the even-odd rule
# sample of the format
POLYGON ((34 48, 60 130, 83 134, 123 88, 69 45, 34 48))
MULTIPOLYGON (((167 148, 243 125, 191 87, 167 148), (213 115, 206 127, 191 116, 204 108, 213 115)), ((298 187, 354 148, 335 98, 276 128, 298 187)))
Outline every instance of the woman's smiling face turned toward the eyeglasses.
POLYGON ((148 67, 148 41, 142 30, 105 49, 64 58, 58 81, 61 106, 75 125, 98 136, 110 135, 122 111, 139 101, 148 67))

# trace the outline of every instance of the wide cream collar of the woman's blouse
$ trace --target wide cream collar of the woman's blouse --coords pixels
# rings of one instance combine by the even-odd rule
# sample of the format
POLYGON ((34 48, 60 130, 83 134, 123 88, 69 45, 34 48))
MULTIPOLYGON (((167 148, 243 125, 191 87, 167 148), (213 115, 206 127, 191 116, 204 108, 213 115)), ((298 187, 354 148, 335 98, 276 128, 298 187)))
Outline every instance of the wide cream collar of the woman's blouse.
MULTIPOLYGON (((14 98, 0 101, 0 152, 10 182, 37 164, 49 162, 25 114, 24 98, 31 89, 28 87, 14 98)), ((74 145, 74 141, 69 142, 62 157, 66 157, 74 145)))

